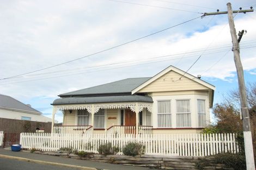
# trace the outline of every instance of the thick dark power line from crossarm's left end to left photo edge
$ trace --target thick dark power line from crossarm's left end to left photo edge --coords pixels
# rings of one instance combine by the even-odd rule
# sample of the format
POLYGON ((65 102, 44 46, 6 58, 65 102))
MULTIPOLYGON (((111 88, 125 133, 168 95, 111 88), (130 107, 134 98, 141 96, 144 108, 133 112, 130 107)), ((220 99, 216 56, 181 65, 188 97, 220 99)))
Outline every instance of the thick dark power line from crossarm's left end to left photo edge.
POLYGON ((103 49, 102 51, 99 51, 99 52, 96 52, 96 53, 92 53, 92 54, 89 54, 89 55, 83 56, 83 57, 81 57, 81 58, 77 58, 77 59, 74 59, 74 60, 70 60, 70 61, 62 62, 62 63, 60 63, 60 64, 53 65, 53 66, 49 66, 49 67, 45 67, 45 68, 41 68, 41 69, 39 69, 39 70, 35 70, 35 71, 27 72, 27 73, 22 73, 22 74, 14 75, 14 76, 7 77, 7 78, 2 78, 2 79, 0 79, 0 80, 10 79, 10 78, 14 78, 14 77, 17 77, 17 76, 20 76, 20 75, 26 75, 26 74, 29 74, 29 73, 39 72, 39 71, 42 71, 42 70, 47 70, 47 69, 49 69, 49 68, 53 68, 53 67, 57 67, 57 66, 60 66, 60 65, 68 64, 69 62, 73 62, 73 61, 81 60, 81 59, 83 59, 83 58, 88 58, 89 56, 92 56, 92 55, 95 55, 95 54, 99 54, 99 53, 102 53, 102 52, 106 52, 106 51, 109 51, 109 50, 111 50, 111 49, 114 49, 114 48, 117 48, 117 47, 120 47, 120 46, 127 45, 128 43, 131 43, 131 42, 135 42, 135 41, 138 41, 138 40, 144 39, 145 37, 149 37, 149 36, 151 36, 151 35, 155 35, 155 34, 157 34, 157 33, 164 32, 165 30, 168 30, 168 29, 171 29, 171 28, 174 28, 174 27, 180 26, 181 24, 185 24, 185 23, 187 23, 187 22, 190 22, 190 21, 196 20, 197 18, 200 18, 200 17, 201 17, 201 16, 199 16, 199 17, 195 17, 195 18, 192 18, 192 19, 187 20, 187 21, 185 21, 185 22, 178 23, 178 24, 176 24, 176 25, 174 25, 174 26, 171 26, 171 27, 168 27, 168 28, 165 28, 165 29, 159 30, 159 31, 157 31, 157 32, 154 32, 154 33, 151 33, 151 34, 148 34, 148 35, 142 36, 142 37, 139 37, 138 39, 131 40, 131 41, 128 41, 128 42, 122 43, 122 44, 120 44, 120 45, 117 45, 117 46, 114 46, 114 47, 111 47, 111 48, 103 49))

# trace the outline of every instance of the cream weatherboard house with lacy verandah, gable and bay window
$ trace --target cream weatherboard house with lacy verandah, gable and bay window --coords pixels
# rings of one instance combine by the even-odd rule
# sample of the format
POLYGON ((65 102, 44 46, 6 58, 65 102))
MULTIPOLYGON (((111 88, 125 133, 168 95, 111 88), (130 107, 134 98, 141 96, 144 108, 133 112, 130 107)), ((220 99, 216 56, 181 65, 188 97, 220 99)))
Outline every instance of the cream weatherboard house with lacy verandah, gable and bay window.
POLYGON ((215 86, 174 66, 59 95, 66 133, 199 133, 210 122, 215 86))

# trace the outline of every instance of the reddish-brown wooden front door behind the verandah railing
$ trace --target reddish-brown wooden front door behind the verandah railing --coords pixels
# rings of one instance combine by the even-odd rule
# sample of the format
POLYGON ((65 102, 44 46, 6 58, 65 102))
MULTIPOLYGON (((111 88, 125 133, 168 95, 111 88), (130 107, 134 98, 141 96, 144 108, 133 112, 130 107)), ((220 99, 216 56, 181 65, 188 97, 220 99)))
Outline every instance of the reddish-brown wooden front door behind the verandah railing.
POLYGON ((135 134, 136 130, 136 113, 131 111, 130 109, 125 109, 125 126, 126 133, 135 134))

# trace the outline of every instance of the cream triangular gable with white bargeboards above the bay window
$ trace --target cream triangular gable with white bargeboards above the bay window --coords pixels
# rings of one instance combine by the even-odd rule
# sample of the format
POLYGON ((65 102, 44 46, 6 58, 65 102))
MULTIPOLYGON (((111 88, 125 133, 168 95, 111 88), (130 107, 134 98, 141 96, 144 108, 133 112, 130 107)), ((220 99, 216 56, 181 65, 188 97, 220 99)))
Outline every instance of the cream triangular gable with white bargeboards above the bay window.
POLYGON ((156 92, 156 91, 178 91, 178 90, 215 90, 215 86, 203 80, 185 73, 176 67, 169 66, 154 77, 145 81, 142 85, 132 90, 136 92, 156 92), (183 76, 182 76, 183 75, 183 76), (180 77, 182 78, 180 79, 180 77))

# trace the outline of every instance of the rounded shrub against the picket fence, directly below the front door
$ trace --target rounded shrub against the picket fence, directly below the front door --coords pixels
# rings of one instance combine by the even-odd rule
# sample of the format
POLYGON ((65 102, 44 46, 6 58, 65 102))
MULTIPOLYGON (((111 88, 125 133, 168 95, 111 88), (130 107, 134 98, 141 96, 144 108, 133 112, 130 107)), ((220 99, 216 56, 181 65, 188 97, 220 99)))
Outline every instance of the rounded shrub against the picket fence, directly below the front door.
POLYGON ((144 146, 141 143, 130 142, 123 148, 123 153, 128 156, 144 154, 144 146))

